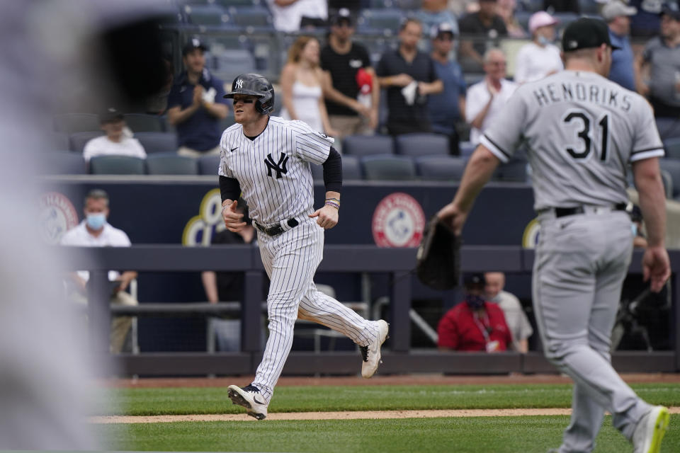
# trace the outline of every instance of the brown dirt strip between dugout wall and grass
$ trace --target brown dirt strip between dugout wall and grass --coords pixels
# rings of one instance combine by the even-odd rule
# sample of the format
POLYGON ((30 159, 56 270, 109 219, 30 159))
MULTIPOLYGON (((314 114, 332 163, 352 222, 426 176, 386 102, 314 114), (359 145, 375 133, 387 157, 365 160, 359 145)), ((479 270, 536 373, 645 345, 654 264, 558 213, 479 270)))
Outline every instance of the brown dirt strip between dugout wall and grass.
MULTIPOLYGON (((629 384, 645 382, 680 383, 680 373, 621 374, 629 384)), ((248 384, 254 376, 209 378, 142 378, 106 379, 101 385, 111 388, 156 389, 163 387, 226 387, 230 384, 248 384)), ((385 386, 385 385, 497 385, 497 384, 571 384, 571 379, 559 374, 503 374, 485 376, 444 376, 443 374, 404 374, 374 376, 362 379, 344 377, 281 377, 278 386, 385 386)))

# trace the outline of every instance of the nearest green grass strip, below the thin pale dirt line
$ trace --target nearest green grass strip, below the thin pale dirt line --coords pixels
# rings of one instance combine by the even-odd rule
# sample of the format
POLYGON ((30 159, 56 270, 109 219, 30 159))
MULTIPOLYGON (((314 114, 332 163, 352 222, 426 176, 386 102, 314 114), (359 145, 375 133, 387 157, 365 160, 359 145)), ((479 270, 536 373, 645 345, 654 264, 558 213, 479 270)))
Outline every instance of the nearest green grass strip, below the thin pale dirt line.
MULTIPOLYGON (((283 389, 282 389, 283 390, 283 389)), ((283 393, 283 392, 282 392, 283 393)), ((110 449, 203 452, 545 453, 560 445, 569 418, 482 417, 99 425, 110 449)), ((672 415, 662 452, 680 451, 672 415)), ((630 452, 606 417, 595 453, 630 452)))

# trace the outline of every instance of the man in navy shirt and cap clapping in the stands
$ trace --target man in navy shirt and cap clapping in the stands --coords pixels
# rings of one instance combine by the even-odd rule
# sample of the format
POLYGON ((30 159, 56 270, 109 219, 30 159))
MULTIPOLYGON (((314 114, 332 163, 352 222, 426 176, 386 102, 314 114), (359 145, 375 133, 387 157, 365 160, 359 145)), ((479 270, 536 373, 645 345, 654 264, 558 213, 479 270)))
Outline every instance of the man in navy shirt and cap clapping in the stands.
POLYGON ((205 68, 206 50, 198 38, 186 43, 182 49, 186 71, 179 74, 168 96, 168 120, 176 127, 181 156, 220 154, 220 120, 229 108, 222 97, 224 82, 205 68))

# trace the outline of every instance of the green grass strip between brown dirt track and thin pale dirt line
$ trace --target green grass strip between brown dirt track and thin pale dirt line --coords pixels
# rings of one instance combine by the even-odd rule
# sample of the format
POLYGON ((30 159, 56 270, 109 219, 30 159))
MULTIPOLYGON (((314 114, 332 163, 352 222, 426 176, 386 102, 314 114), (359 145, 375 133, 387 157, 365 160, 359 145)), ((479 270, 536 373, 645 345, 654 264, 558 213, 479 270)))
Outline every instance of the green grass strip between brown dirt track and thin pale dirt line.
MULTIPOLYGON (((278 387, 269 412, 566 408, 570 385, 278 387)), ((680 384, 634 384, 645 401, 680 406, 680 384)), ((226 388, 113 389, 101 415, 239 413, 226 388)), ((680 450, 679 450, 680 451, 680 450)))

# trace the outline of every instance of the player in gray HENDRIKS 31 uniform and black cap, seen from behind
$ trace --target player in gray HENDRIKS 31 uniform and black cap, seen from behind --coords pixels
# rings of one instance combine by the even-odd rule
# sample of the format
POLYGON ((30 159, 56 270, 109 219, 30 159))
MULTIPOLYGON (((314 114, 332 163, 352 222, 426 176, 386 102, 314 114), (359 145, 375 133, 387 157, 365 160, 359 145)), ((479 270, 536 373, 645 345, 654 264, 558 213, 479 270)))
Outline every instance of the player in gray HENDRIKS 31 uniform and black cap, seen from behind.
POLYGON ((611 366, 609 347, 633 248, 624 211, 628 164, 650 234, 645 280, 658 292, 670 275, 662 142, 647 101, 605 79, 616 48, 604 22, 570 23, 562 49, 566 70, 516 91, 438 217, 460 233, 499 161, 526 144, 540 222, 533 306, 545 356, 574 380, 572 419, 557 452, 591 452, 605 411, 635 453, 659 452, 668 410, 635 395, 611 366))

